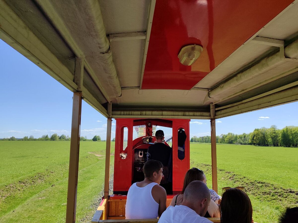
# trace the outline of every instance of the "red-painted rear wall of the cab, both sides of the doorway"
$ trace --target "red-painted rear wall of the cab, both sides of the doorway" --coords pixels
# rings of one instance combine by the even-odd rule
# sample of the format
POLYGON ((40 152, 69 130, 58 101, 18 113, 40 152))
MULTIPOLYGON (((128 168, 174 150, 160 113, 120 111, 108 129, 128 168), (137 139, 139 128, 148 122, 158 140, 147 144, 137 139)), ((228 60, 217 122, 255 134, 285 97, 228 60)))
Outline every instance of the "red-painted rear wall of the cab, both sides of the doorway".
MULTIPOLYGON (((128 191, 132 181, 132 167, 133 167, 133 153, 132 148, 134 144, 138 144, 142 137, 132 140, 134 120, 138 119, 116 119, 116 142, 115 142, 115 162, 114 162, 114 191, 128 191), (122 152, 123 144, 123 127, 128 128, 128 146, 125 152, 127 152, 127 158, 121 159, 119 154, 122 152)), ((190 168, 190 153, 189 153, 189 119, 159 119, 152 120, 152 124, 158 124, 161 126, 173 127, 173 191, 179 192, 183 187, 183 179, 185 173, 190 168), (167 120, 167 121, 165 121, 167 120), (163 121, 165 121, 163 123, 163 121), (171 121, 172 123, 169 123, 171 121), (185 158, 183 160, 178 159, 178 130, 184 128, 187 134, 185 141, 185 158)), ((137 122, 137 124, 139 124, 137 122)), ((154 137, 153 137, 154 138, 154 137)), ((146 148, 148 145, 144 145, 146 148)))

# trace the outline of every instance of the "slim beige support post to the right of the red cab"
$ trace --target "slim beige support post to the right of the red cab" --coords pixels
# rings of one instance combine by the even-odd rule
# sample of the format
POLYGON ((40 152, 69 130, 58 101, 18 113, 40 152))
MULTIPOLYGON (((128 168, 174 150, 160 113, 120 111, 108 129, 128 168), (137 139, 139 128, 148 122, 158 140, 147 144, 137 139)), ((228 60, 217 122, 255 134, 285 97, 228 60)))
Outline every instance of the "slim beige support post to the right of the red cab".
POLYGON ((211 164, 212 164, 212 189, 217 189, 217 162, 216 162, 216 131, 215 131, 215 105, 210 104, 210 124, 211 124, 211 164))

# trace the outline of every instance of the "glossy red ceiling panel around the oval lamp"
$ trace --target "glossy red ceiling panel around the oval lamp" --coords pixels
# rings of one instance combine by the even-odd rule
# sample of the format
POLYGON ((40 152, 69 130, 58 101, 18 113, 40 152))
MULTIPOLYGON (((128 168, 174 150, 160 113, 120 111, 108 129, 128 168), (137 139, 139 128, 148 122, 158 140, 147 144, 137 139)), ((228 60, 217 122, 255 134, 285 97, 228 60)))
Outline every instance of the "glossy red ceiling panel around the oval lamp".
POLYGON ((156 1, 142 89, 191 89, 293 0, 156 1), (201 45, 201 57, 181 65, 180 49, 201 45))

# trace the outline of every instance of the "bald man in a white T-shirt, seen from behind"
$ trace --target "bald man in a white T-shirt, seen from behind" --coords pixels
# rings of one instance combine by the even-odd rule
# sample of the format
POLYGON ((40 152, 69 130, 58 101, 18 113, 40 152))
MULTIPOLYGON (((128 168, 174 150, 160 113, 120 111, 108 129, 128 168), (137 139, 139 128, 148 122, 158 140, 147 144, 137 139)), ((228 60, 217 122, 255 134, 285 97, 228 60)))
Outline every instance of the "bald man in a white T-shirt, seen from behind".
POLYGON ((206 214, 210 200, 210 191, 206 184, 195 180, 186 187, 182 204, 169 206, 158 223, 212 223, 207 218, 201 217, 206 214))

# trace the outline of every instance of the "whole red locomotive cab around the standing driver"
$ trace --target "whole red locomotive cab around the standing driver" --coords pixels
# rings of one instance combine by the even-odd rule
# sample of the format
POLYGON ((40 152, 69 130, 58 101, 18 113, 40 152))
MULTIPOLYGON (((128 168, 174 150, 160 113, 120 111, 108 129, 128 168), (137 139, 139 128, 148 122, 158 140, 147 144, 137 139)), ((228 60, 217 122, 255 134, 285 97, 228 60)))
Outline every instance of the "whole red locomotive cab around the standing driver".
POLYGON ((189 119, 116 119, 113 193, 127 195, 132 183, 144 180, 142 167, 147 161, 148 147, 156 140, 156 130, 166 127, 164 143, 172 149, 169 181, 172 182, 172 194, 179 194, 185 173, 190 168, 189 122, 189 119), (178 156, 178 132, 181 129, 187 136, 182 158, 178 156))

